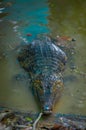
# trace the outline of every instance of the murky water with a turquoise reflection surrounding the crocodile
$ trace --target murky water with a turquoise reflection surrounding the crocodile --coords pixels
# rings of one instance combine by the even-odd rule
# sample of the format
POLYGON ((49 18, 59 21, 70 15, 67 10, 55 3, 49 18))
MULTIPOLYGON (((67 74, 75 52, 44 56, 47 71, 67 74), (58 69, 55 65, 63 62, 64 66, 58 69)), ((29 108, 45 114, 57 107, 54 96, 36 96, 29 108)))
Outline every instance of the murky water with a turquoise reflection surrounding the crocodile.
MULTIPOLYGON (((78 72, 71 72, 67 63, 64 91, 54 112, 86 115, 86 2, 80 0, 18 0, 0 1, 0 104, 38 112, 39 108, 16 60, 21 44, 28 44, 37 34, 51 33, 76 39, 72 63, 78 72), (27 37, 27 33, 32 35, 27 37), (82 73, 81 73, 82 72, 82 73)), ((27 76, 26 76, 27 77, 27 76)))

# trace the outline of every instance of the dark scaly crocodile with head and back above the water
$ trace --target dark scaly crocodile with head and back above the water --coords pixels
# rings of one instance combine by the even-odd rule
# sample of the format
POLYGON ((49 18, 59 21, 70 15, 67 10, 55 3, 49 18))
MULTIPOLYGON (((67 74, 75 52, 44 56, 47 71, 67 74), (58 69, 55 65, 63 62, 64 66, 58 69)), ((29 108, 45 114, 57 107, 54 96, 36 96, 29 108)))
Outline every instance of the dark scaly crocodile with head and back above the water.
POLYGON ((28 72, 34 95, 45 114, 52 112, 60 96, 66 60, 66 54, 46 37, 23 46, 18 55, 18 61, 28 72))

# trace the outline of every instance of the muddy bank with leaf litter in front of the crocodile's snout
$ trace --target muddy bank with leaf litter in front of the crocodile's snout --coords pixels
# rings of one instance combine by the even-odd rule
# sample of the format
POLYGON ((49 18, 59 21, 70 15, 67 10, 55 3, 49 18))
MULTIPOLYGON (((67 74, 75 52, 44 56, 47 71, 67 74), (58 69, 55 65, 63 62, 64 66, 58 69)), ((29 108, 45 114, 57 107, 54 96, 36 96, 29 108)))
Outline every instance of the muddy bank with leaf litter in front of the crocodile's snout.
POLYGON ((24 112, 0 107, 0 130, 85 130, 86 116, 72 114, 52 114, 40 117, 39 113, 24 112))

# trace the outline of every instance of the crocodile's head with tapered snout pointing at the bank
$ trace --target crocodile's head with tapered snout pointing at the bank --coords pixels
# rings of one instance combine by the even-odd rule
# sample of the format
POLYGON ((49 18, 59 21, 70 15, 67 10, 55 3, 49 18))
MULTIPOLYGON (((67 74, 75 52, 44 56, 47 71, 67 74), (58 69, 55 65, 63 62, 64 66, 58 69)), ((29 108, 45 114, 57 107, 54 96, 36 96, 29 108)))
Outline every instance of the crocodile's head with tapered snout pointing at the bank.
POLYGON ((38 97, 42 112, 44 114, 51 114, 53 106, 61 95, 63 88, 61 74, 41 75, 33 83, 34 93, 38 97))

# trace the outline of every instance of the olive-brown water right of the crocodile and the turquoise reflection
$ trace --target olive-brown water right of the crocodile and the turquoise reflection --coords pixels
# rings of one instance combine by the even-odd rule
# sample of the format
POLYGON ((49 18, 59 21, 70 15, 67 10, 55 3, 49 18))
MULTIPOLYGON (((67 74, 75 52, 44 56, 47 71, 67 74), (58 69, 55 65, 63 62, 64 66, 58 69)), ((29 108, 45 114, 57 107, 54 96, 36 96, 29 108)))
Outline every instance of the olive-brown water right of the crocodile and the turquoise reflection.
MULTIPOLYGON (((71 36, 76 39, 72 63, 86 73, 86 1, 50 0, 49 24, 51 34, 71 36)), ((79 73, 72 73, 67 65, 64 73, 64 94, 55 107, 55 112, 86 114, 86 79, 79 73), (72 77, 71 77, 72 76, 72 77), (73 78, 74 77, 74 78, 73 78), (75 80, 73 80, 75 79, 75 80)))

